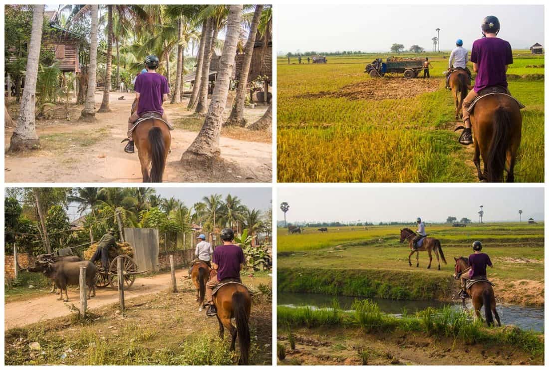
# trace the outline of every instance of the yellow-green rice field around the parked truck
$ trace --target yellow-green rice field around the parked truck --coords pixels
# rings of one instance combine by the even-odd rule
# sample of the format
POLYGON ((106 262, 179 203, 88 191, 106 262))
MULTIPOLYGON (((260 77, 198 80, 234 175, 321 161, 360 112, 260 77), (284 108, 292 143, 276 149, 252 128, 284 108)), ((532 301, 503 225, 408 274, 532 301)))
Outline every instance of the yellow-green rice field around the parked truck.
MULTIPOLYGON (((372 78, 389 54, 277 59, 280 182, 476 182, 473 146, 457 143, 447 59, 428 56, 431 79, 372 78)), ((400 56, 412 56, 400 54, 400 56)), ((414 56, 417 56, 414 55, 414 56)), ((544 180, 544 56, 514 50, 509 90, 526 107, 515 181, 544 180)), ((473 76, 474 77, 474 76, 473 76)))

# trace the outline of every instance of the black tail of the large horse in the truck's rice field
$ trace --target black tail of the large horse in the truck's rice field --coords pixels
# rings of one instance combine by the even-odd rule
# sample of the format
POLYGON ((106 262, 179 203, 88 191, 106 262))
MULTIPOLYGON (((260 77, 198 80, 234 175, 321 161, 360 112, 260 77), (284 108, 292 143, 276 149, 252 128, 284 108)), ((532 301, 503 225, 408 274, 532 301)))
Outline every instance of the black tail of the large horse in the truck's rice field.
POLYGON ((494 112, 494 130, 488 156, 486 156, 486 175, 490 183, 502 180, 507 148, 511 142, 511 115, 503 107, 494 112))

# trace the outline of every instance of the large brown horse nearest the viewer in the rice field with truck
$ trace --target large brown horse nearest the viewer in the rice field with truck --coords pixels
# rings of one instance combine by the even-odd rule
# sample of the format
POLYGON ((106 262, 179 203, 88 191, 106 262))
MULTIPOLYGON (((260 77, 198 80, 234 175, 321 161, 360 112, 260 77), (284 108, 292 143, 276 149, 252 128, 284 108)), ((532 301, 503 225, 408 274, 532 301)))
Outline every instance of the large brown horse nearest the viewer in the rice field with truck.
POLYGON ((473 162, 479 180, 503 182, 507 164, 507 183, 512 183, 522 131, 519 104, 505 94, 488 95, 477 101, 470 119, 475 144, 473 162), (480 170, 480 156, 484 173, 480 170))

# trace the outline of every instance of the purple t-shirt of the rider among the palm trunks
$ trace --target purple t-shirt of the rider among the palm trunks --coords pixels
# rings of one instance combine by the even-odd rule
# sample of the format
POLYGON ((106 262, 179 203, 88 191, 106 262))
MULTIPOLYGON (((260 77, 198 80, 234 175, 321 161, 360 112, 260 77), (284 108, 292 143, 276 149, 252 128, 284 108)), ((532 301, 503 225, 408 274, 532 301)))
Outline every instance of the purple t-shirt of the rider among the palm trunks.
POLYGON ((164 113, 162 96, 170 92, 166 77, 159 73, 141 73, 137 76, 133 89, 139 93, 139 103, 137 104, 139 116, 145 112, 164 113))

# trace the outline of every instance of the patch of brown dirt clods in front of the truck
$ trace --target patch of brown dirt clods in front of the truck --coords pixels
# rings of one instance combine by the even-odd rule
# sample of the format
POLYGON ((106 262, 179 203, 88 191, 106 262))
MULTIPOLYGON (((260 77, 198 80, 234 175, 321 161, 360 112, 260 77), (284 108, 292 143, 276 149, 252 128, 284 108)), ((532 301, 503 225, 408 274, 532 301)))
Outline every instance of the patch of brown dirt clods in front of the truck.
POLYGON ((346 98, 349 100, 408 99, 419 94, 432 93, 440 86, 438 79, 419 78, 371 78, 340 88, 338 91, 321 91, 304 94, 298 98, 346 98))

